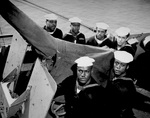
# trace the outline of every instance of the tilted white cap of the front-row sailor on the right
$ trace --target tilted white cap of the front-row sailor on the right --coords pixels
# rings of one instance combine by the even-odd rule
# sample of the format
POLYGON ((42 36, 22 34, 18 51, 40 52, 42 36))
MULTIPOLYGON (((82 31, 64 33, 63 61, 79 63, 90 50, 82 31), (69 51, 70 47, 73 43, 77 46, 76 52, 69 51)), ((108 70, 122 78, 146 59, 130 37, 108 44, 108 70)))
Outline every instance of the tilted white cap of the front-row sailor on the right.
POLYGON ((119 60, 122 63, 130 63, 133 61, 132 54, 126 51, 115 51, 114 52, 115 59, 119 60))

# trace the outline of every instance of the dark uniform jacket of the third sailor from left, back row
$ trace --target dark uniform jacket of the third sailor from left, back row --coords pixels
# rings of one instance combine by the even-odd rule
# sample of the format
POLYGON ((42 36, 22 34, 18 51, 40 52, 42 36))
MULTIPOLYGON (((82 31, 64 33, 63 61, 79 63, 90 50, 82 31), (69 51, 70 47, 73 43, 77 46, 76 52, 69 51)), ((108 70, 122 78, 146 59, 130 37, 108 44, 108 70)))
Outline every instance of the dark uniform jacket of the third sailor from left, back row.
POLYGON ((114 40, 112 37, 105 36, 105 39, 100 44, 98 44, 95 38, 96 38, 95 36, 88 38, 87 45, 98 46, 98 47, 107 46, 113 49, 115 49, 117 46, 116 40, 114 40))

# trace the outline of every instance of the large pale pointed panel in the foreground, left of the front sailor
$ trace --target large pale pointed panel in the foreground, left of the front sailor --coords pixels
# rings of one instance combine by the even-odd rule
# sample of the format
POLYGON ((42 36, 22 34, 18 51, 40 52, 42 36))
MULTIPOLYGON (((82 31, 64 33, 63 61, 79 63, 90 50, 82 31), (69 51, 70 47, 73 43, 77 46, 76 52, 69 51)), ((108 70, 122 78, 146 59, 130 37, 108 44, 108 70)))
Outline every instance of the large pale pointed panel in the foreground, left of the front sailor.
POLYGON ((31 86, 30 98, 21 118, 45 118, 57 84, 39 59, 36 60, 28 86, 31 86))

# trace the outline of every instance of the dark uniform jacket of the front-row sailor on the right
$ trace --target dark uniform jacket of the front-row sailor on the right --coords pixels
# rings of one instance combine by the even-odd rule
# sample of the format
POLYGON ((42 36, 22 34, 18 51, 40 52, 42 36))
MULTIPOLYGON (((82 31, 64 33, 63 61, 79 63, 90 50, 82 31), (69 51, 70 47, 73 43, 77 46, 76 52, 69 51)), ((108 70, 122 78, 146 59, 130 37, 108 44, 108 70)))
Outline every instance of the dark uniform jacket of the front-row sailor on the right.
POLYGON ((132 79, 120 77, 110 80, 106 89, 110 113, 116 118, 135 118, 132 108, 135 105, 136 89, 132 79))

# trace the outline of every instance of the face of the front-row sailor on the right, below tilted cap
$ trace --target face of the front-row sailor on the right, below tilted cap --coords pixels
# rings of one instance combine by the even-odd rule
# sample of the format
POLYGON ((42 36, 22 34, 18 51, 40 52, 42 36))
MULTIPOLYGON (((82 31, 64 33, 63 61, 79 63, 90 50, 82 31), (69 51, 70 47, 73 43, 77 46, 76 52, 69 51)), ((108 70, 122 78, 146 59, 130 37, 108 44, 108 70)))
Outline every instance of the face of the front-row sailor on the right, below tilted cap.
POLYGON ((114 69, 115 75, 120 76, 126 72, 126 70, 128 69, 128 64, 122 63, 119 60, 115 59, 113 69, 114 69))

